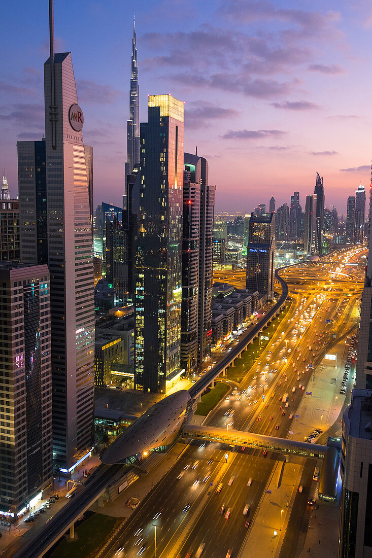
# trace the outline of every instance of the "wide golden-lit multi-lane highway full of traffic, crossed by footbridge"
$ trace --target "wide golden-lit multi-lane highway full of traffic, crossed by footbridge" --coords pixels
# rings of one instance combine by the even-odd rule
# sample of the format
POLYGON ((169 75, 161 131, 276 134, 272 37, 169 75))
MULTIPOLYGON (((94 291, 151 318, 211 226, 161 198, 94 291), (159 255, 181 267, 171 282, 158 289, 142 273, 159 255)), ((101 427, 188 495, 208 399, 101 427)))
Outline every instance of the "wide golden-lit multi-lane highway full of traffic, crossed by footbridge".
MULTIPOLYGON (((349 256, 336 253, 303 268, 293 267, 282 272, 289 285, 292 305, 279 328, 276 329, 274 322, 265 330, 270 335, 269 345, 235 390, 235 395, 223 400, 206 424, 229 424, 236 430, 287 437, 313 373, 308 365, 312 363, 316 367, 325 352, 356 329, 365 264, 360 256, 365 253, 353 248, 349 256), (348 258, 347 262, 342 262, 344 257, 348 258), (360 262, 358 267, 344 265, 354 261, 360 262), (330 322, 326 324, 326 320, 330 322), (289 394, 288 408, 280 401, 284 393, 289 394), (228 410, 229 416, 226 416, 228 410)), ((231 282, 226 275, 225 280, 231 282)), ((239 360, 236 365, 240 366, 239 360)), ((252 527, 246 527, 247 521, 254 516, 278 456, 270 452, 264 456, 257 450, 238 449, 232 453, 229 449, 230 466, 222 479, 214 482, 215 477, 221 475, 225 451, 212 442, 203 447, 196 442, 187 446, 177 464, 127 522, 106 556, 155 556, 156 525, 158 557, 173 556, 175 549, 174 556, 193 557, 202 549, 202 556, 226 558, 230 552, 231 558, 235 558, 252 527), (247 485, 249 479, 252 479, 250 486, 247 485), (217 494, 220 482, 222 488, 217 494), (196 513, 202 501, 205 501, 202 512, 196 513), (246 504, 250 505, 247 516, 243 514, 246 504), (230 515, 225 518, 228 509, 230 515), (185 528, 189 522, 190 533, 185 528)), ((307 482, 312 470, 313 462, 304 468, 307 478, 302 483, 307 482)), ((292 518, 291 515, 296 525, 306 516, 307 493, 308 490, 298 509, 299 516, 292 518)), ((293 547, 297 538, 290 522, 285 543, 290 546, 292 540, 293 547)))

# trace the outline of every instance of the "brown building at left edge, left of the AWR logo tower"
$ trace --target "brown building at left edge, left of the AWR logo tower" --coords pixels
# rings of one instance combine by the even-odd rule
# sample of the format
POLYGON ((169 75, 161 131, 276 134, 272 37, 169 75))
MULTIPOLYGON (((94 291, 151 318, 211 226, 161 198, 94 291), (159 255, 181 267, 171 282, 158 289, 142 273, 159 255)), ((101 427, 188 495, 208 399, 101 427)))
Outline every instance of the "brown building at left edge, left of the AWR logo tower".
POLYGON ((0 262, 20 262, 20 203, 0 202, 0 262))

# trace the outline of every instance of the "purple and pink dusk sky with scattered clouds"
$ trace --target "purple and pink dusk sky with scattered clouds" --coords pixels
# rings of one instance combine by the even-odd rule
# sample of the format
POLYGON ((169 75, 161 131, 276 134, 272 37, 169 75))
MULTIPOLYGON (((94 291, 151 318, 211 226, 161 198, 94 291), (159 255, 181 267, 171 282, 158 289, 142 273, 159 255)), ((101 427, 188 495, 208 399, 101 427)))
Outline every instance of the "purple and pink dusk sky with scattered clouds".
MULTIPOLYGON (((185 151, 206 157, 216 210, 289 204, 323 176, 346 213, 369 191, 372 4, 367 0, 55 0, 56 52, 71 51, 94 203, 121 205, 136 18, 140 121, 147 95, 185 102, 185 151)), ((45 129, 47 2, 2 9, 0 165, 17 194, 17 141, 45 129)))

